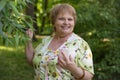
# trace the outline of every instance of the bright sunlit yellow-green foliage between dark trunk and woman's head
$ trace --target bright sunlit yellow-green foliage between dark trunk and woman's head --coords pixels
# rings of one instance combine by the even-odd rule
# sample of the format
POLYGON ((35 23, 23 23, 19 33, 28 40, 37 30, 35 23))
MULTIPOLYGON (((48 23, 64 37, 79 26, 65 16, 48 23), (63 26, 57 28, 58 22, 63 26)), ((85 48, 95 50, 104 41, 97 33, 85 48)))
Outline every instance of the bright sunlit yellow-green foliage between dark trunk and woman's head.
POLYGON ((49 12, 55 4, 60 2, 61 0, 38 0, 36 15, 39 34, 50 35, 53 33, 53 26, 50 22, 49 12))

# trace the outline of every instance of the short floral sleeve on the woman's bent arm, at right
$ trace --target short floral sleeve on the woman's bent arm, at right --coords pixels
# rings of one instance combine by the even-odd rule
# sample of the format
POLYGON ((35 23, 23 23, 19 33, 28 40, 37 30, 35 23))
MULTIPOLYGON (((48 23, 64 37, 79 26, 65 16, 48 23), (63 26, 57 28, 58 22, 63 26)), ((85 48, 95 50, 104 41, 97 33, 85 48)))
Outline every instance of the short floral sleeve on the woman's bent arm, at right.
POLYGON ((77 40, 78 48, 75 61, 78 66, 94 74, 92 52, 88 43, 84 40, 77 40))

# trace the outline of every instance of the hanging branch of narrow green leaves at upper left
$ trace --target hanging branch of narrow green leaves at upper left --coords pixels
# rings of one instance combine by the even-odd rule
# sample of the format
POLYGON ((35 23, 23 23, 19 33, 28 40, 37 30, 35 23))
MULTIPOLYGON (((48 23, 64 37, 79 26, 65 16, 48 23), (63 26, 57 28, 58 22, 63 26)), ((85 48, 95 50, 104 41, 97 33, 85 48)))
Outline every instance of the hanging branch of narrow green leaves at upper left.
POLYGON ((6 45, 15 45, 26 39, 24 28, 31 28, 32 19, 24 14, 24 8, 30 0, 1 0, 0 1, 0 39, 6 45), (29 20, 29 22, 27 22, 29 20))

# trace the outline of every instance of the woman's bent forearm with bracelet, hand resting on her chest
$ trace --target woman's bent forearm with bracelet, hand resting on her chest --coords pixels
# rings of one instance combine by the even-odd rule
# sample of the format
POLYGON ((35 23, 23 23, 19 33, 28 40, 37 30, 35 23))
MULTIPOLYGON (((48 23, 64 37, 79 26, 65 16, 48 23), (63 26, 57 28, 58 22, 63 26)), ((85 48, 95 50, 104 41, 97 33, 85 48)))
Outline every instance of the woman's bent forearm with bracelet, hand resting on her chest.
POLYGON ((92 80, 93 74, 81 67, 78 67, 71 56, 68 57, 68 55, 63 52, 61 55, 64 59, 58 55, 58 64, 62 68, 69 70, 76 80, 92 80))

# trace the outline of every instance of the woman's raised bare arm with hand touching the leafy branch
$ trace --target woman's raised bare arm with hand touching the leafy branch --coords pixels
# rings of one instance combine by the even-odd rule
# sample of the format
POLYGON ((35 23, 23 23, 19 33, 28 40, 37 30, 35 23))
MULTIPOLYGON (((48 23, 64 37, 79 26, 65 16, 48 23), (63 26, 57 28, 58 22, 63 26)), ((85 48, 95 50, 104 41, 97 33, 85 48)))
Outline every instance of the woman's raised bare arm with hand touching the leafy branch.
POLYGON ((34 56, 34 49, 32 46, 33 31, 27 30, 26 34, 29 36, 30 40, 28 40, 28 42, 26 42, 25 53, 26 53, 28 63, 32 64, 32 59, 34 56))

